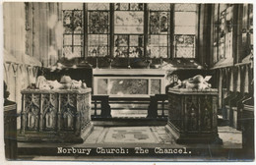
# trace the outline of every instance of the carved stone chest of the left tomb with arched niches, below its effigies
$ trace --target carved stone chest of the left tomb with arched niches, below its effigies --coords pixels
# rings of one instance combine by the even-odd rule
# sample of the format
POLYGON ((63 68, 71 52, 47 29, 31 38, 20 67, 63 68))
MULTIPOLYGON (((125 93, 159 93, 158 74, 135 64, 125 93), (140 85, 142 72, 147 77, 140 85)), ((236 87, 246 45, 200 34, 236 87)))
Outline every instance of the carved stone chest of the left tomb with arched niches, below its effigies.
POLYGON ((83 142, 93 131, 91 90, 22 90, 18 140, 83 142))

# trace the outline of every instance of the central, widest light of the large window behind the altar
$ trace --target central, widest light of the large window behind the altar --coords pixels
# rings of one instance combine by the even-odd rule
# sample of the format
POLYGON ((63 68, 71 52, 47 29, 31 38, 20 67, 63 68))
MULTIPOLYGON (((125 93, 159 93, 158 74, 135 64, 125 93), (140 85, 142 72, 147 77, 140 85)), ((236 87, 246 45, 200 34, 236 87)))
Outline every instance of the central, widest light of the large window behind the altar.
POLYGON ((114 11, 114 56, 143 57, 144 6, 116 3, 114 11))

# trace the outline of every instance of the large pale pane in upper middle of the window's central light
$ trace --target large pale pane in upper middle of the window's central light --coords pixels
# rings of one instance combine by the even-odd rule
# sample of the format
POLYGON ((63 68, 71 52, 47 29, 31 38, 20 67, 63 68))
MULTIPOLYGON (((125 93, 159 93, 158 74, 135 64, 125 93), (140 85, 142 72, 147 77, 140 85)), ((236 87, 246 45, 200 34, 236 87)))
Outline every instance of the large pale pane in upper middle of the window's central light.
POLYGON ((115 12, 115 33, 143 33, 143 12, 115 12))

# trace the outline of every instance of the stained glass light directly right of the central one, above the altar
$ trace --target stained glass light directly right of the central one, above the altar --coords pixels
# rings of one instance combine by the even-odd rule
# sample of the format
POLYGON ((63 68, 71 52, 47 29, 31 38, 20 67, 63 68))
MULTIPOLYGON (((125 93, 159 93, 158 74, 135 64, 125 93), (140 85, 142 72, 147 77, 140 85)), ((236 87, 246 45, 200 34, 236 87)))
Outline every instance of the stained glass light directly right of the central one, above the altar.
POLYGON ((148 53, 151 58, 168 57, 170 4, 149 4, 148 53))

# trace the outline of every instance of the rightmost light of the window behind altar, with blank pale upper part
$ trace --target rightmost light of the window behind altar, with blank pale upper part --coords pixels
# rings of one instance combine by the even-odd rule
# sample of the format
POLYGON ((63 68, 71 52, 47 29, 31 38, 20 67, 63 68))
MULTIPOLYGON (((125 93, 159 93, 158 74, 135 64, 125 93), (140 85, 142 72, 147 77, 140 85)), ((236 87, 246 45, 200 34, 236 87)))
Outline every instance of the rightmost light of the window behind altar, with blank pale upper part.
POLYGON ((174 57, 195 58, 196 4, 174 5, 174 57))

